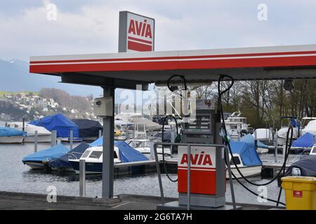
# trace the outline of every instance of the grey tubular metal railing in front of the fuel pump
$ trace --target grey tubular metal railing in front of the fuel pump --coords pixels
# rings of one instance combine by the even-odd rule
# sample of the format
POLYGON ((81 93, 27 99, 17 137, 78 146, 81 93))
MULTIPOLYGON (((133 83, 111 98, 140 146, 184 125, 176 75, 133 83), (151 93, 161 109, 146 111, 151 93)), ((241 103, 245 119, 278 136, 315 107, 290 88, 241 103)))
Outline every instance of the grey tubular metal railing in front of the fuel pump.
MULTIPOLYGON (((191 183, 190 183, 190 178, 191 178, 191 147, 192 146, 204 146, 204 147, 220 147, 220 148, 226 148, 223 145, 218 145, 218 144, 180 144, 180 143, 169 143, 169 142, 156 142, 154 143, 154 159, 156 161, 156 166, 157 166, 157 175, 158 175, 158 181, 159 181, 159 190, 160 190, 160 195, 162 197, 162 202, 165 203, 166 200, 164 199, 164 190, 162 187, 162 175, 160 172, 160 165, 159 165, 159 160, 158 160, 158 154, 157 154, 157 146, 187 146, 187 210, 190 210, 190 203, 191 203, 191 183)), ((228 155, 226 153, 226 155, 228 155)), ((230 167, 229 173, 230 173, 230 167)), ((231 176, 230 176, 231 177, 231 176)), ((230 186, 232 189, 232 185, 230 186)), ((232 190, 233 194, 233 190, 232 190)), ((235 197, 234 200, 235 201, 235 197)), ((235 203, 234 203, 235 204, 235 203)))

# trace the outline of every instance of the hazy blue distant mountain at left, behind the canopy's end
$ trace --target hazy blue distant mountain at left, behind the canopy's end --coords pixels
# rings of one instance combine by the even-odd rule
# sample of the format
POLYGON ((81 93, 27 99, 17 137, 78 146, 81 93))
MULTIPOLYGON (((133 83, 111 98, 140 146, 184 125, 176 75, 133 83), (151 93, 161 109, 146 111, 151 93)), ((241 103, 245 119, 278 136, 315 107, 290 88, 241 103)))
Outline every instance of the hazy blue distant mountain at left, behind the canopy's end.
POLYGON ((18 92, 22 90, 39 91, 42 87, 55 87, 71 95, 99 97, 100 87, 58 83, 60 77, 29 73, 28 62, 19 59, 4 61, 0 59, 0 90, 18 92))

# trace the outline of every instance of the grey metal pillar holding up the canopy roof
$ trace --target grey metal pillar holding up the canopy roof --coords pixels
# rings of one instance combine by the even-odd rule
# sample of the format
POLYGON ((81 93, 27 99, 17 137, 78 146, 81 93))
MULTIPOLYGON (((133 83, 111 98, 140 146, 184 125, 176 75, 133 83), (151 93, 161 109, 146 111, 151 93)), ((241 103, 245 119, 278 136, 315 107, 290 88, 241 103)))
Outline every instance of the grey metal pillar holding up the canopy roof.
POLYGON ((102 197, 113 197, 114 186, 114 88, 104 87, 103 96, 112 97, 112 116, 103 118, 102 197))

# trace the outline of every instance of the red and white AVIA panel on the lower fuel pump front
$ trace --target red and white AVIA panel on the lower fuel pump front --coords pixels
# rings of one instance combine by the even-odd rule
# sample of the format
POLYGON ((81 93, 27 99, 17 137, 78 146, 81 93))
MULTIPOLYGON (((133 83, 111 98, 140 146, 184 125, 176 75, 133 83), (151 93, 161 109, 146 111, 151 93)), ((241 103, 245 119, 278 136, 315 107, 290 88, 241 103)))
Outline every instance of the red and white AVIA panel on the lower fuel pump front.
MULTIPOLYGON (((178 192, 187 193, 187 147, 178 147, 178 192)), ((190 192, 216 194, 216 148, 192 146, 190 155, 190 192)))

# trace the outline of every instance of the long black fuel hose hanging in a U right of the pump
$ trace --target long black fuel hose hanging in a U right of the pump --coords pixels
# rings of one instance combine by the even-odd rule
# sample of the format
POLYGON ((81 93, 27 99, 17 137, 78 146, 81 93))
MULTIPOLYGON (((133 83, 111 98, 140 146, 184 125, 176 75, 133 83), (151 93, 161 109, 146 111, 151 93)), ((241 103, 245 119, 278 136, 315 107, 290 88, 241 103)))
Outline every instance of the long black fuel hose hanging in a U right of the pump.
MULTIPOLYGON (((239 167, 237 167, 237 164, 234 160, 234 157, 232 155, 232 149, 230 148, 230 143, 228 141, 228 134, 227 134, 227 130, 226 130, 226 127, 225 127, 225 117, 224 117, 224 113, 223 113, 223 105, 222 105, 222 100, 221 100, 221 97, 222 95, 225 93, 225 92, 228 92, 228 90, 230 90, 230 88, 232 87, 232 85, 234 84, 234 79, 230 76, 226 76, 226 75, 221 75, 220 78, 218 78, 218 114, 217 114, 217 121, 220 121, 220 118, 223 120, 223 130, 224 130, 224 135, 225 135, 225 144, 228 145, 228 148, 229 148, 229 151, 230 151, 230 155, 232 157, 232 162, 234 163, 236 169, 237 169, 237 172, 239 172, 239 175, 242 176, 242 179, 244 179, 247 183, 250 183, 251 185, 254 185, 254 186, 267 186, 268 184, 272 183, 273 181, 275 181, 278 177, 279 177, 279 174, 281 174, 282 170, 285 169, 285 166, 286 166, 286 163, 287 163, 287 158, 289 156, 289 150, 291 148, 291 143, 292 143, 292 139, 293 139, 293 127, 289 127, 289 130, 288 130, 288 133, 287 133, 287 141, 289 139, 289 131, 291 130, 291 140, 290 140, 290 144, 289 145, 286 145, 286 155, 285 155, 285 159, 284 159, 284 163, 282 165, 282 168, 280 169, 279 173, 277 174, 277 176, 275 176, 274 179, 272 179, 271 181, 268 181, 267 183, 262 183, 262 184, 258 184, 258 183, 253 183, 251 181, 249 181, 248 179, 246 179, 246 177, 242 174, 242 172, 240 172, 239 170, 239 167), (224 78, 229 78, 231 83, 230 83, 230 86, 227 87, 225 90, 223 91, 220 91, 220 83, 224 80, 224 78), (289 148, 288 148, 289 147, 289 148)), ((226 161, 226 165, 230 166, 230 163, 228 163, 226 161)), ((250 190, 249 188, 247 188, 246 186, 244 186, 243 183, 241 183, 241 181, 239 181, 239 179, 236 178, 235 174, 232 173, 232 176, 234 176, 234 178, 238 181, 238 183, 240 183, 246 190, 249 190, 250 193, 258 196, 258 197, 262 197, 256 193, 254 193, 254 191, 250 190)), ((278 201, 275 201, 275 200, 270 200, 268 198, 266 198, 268 201, 271 201, 271 202, 277 202, 278 201)), ((282 202, 279 202, 280 204, 284 204, 282 202)))

